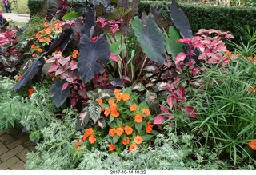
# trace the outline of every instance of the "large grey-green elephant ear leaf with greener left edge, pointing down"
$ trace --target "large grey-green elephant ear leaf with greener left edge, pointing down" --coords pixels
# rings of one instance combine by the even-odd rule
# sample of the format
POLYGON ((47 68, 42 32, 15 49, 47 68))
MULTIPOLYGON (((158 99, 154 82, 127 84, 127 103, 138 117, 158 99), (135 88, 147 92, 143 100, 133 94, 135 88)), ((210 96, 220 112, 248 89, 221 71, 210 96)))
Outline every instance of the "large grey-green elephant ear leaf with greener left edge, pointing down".
POLYGON ((165 62, 166 42, 161 30, 159 30, 158 25, 154 21, 154 17, 150 15, 146 26, 143 25, 138 17, 135 17, 132 27, 146 56, 162 66, 165 62))

